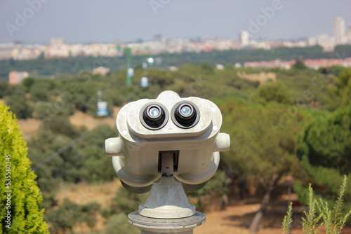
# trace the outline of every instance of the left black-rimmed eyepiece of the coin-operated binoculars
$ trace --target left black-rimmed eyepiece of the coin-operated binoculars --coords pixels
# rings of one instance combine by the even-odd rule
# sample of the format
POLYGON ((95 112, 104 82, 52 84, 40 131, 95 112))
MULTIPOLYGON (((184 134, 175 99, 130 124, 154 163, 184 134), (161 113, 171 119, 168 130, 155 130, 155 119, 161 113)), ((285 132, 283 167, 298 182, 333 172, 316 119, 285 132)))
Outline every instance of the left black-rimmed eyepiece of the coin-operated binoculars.
POLYGON ((160 103, 146 104, 140 111, 140 122, 147 129, 159 130, 168 121, 168 113, 165 110, 166 107, 160 103))

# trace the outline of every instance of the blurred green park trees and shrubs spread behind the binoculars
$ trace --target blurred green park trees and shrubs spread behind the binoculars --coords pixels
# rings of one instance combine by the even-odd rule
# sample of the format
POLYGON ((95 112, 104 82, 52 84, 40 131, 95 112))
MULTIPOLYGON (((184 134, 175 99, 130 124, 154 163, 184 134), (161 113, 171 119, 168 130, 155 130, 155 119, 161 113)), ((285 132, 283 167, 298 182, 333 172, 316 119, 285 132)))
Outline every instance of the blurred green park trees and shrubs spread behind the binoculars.
MULTIPOLYGON (((289 53, 286 50, 289 49, 265 53, 289 53)), ((304 53, 309 50, 306 51, 304 53)), ((213 60, 219 56, 216 53, 213 52, 213 60)), ((227 53, 230 56, 230 52, 227 53)), ((171 59, 171 55, 164 55, 166 59, 171 59)), ((79 61, 81 59, 72 59, 71 62, 79 61)), ((62 69, 71 67, 64 63, 60 65, 62 69)), ((17 66, 15 64, 12 65, 17 66)), ((230 134, 232 149, 221 153, 216 176, 204 188, 189 195, 197 201, 198 209, 204 210, 208 200, 223 196, 243 199, 249 195, 250 188, 256 188, 262 204, 251 222, 251 233, 257 232, 272 193, 282 186, 286 176, 295 179, 294 190, 301 202, 308 205, 309 184, 325 188, 315 191, 315 195, 327 202, 338 197, 344 174, 350 174, 350 68, 312 71, 298 64, 290 70, 244 69, 227 64, 225 69, 216 69, 211 63, 183 63, 176 71, 147 69, 149 86, 146 88, 140 87, 145 70, 139 65, 135 65, 131 86, 126 86, 125 69, 106 76, 93 75, 90 70, 75 71, 76 74, 58 71, 55 78, 26 78, 18 85, 0 82, 0 98, 17 118, 42 121, 41 129, 32 135, 27 146, 32 170, 37 174, 36 183, 44 194, 41 205, 51 233, 72 231, 77 223, 84 223, 94 233, 97 213, 105 217, 105 233, 118 233, 117 230, 138 233, 138 229, 125 226, 121 220, 126 219, 128 212, 138 209, 145 200, 144 195, 119 188, 110 209, 101 209, 96 202, 77 204, 65 200, 59 204, 55 199, 61 181, 93 184, 115 177, 110 158, 103 156, 105 139, 117 137, 117 130, 110 125, 88 130, 69 122, 69 116, 75 111, 96 117, 98 90, 102 91, 102 100, 108 102, 109 112, 114 116, 113 106, 152 99, 163 90, 173 90, 180 97, 197 96, 215 102, 222 111, 222 131, 230 134), (238 72, 242 71, 246 74, 273 72, 277 81, 249 81, 239 78, 238 72)), ((343 193, 345 210, 351 207, 350 188, 349 183, 343 193)))

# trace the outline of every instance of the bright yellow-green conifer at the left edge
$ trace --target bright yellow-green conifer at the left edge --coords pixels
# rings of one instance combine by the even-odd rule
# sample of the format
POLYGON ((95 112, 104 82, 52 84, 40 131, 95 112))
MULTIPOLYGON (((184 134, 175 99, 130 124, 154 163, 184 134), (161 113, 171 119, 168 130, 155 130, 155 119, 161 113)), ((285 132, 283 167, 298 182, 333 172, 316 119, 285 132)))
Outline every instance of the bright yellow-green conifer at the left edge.
POLYGON ((26 142, 15 116, 1 103, 0 119, 0 233, 48 233, 41 209, 43 198, 30 168, 26 142))

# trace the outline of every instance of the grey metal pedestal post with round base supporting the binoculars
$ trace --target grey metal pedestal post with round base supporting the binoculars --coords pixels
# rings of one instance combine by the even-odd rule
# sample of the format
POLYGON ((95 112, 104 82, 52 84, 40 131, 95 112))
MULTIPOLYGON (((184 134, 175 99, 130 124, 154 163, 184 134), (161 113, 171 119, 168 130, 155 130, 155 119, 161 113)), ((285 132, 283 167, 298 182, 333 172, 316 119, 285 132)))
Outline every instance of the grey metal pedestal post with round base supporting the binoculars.
POLYGON ((194 228, 205 223, 206 215, 195 211, 183 186, 174 180, 172 153, 162 153, 161 174, 161 181, 152 184, 147 201, 138 212, 128 214, 128 221, 141 228, 142 234, 192 234, 194 228))

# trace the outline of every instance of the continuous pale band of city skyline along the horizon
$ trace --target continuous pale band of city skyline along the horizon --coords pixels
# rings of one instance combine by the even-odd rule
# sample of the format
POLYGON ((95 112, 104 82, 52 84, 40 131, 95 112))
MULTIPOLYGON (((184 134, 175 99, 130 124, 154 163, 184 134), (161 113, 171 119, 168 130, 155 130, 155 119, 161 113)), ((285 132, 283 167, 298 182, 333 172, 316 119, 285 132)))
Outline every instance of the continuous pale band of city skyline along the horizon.
POLYGON ((76 56, 103 56, 121 57, 124 48, 131 48, 131 55, 158 55, 160 53, 186 53, 208 52, 212 50, 241 50, 244 48, 271 50, 277 47, 305 47, 322 46, 324 51, 332 51, 340 44, 351 44, 351 24, 345 28, 345 20, 342 16, 336 16, 333 22, 333 36, 320 34, 306 39, 283 40, 252 40, 249 32, 239 32, 237 39, 168 39, 154 36, 152 41, 138 41, 134 43, 75 43, 67 44, 63 37, 51 39, 50 44, 23 44, 23 43, 0 43, 0 60, 32 60, 39 56, 44 58, 53 57, 76 57, 76 56))

